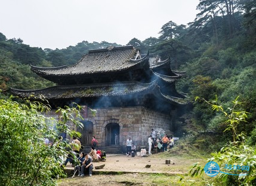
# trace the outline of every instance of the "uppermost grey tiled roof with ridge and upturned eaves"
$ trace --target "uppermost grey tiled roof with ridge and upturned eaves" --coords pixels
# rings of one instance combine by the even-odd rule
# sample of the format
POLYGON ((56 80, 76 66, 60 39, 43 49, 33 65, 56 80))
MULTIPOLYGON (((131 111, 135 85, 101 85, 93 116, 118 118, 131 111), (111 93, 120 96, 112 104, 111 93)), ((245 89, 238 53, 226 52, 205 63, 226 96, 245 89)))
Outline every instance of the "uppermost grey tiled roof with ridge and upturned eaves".
POLYGON ((91 50, 73 66, 51 68, 31 66, 31 70, 39 75, 57 76, 124 71, 132 67, 141 68, 141 65, 147 62, 147 56, 135 59, 136 56, 140 56, 138 52, 133 46, 91 50))

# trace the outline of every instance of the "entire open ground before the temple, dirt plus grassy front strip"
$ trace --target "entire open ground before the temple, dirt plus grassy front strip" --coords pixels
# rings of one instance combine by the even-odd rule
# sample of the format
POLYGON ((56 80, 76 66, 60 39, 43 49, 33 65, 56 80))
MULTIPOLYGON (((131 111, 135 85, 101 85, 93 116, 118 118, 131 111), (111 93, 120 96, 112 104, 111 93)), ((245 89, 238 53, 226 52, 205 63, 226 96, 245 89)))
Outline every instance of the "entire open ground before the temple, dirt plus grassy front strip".
MULTIPOLYGON (((193 157, 186 159, 179 156, 168 156, 168 152, 164 153, 164 156, 156 154, 147 157, 108 155, 106 162, 93 163, 94 167, 102 164, 105 166, 103 169, 94 168, 91 177, 86 175, 85 177, 75 176, 62 179, 58 185, 169 185, 171 182, 178 182, 179 175, 187 174, 193 163, 203 161, 193 157), (170 160, 170 164, 165 163, 167 159, 170 160), (146 168, 146 165, 150 165, 150 168, 146 168), (162 179, 161 183, 155 182, 156 177, 159 176, 162 176, 159 178, 162 179)), ((67 169, 73 170, 69 165, 67 169)))

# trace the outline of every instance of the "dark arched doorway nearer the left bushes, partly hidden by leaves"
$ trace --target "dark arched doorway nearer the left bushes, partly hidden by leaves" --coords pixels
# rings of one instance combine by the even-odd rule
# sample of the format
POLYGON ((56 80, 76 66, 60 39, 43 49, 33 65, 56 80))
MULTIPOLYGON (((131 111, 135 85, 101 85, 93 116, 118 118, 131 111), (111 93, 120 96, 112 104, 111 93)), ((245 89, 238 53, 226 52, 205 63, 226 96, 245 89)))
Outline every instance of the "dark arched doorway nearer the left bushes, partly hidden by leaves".
POLYGON ((83 146, 91 145, 91 140, 93 136, 93 124, 91 121, 81 121, 84 124, 84 128, 79 128, 79 133, 82 134, 81 141, 83 146))

